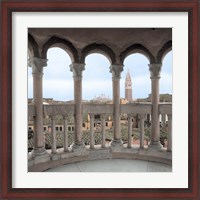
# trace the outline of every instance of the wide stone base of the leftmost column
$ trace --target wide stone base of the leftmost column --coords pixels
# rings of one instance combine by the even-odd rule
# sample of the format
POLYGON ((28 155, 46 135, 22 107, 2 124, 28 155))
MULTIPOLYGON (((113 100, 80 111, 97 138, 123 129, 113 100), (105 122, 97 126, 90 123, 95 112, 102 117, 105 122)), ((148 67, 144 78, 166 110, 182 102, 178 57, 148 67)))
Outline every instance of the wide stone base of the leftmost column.
POLYGON ((30 164, 32 163, 33 165, 48 162, 50 160, 51 156, 47 153, 44 147, 34 148, 29 157, 30 164))

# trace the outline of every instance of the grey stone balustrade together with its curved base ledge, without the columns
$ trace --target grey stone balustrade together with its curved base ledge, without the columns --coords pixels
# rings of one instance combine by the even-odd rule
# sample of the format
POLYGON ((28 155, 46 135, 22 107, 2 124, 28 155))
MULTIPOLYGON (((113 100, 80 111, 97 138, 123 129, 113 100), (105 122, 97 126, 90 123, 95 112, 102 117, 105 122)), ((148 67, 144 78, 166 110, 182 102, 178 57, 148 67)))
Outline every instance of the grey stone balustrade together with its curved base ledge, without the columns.
MULTIPOLYGON (((73 151, 68 145, 68 130, 67 130, 67 116, 74 115, 74 104, 61 104, 61 105, 43 105, 43 114, 51 118, 52 127, 52 147, 48 150, 50 159, 44 162, 37 163, 36 160, 29 158, 29 171, 44 171, 48 168, 57 167, 59 165, 80 162, 85 160, 95 160, 95 159, 106 159, 106 158, 121 158, 121 159, 141 159, 162 162, 166 164, 171 164, 172 162, 172 137, 171 137, 171 125, 172 125, 172 104, 171 103, 161 103, 159 104, 159 113, 162 116, 168 117, 168 142, 167 150, 163 149, 160 151, 150 151, 144 146, 144 126, 146 115, 150 115, 152 111, 152 105, 149 103, 136 103, 136 104, 124 104, 120 106, 121 114, 127 114, 128 116, 128 141, 127 144, 121 149, 112 149, 109 144, 105 142, 105 116, 113 114, 112 104, 83 104, 82 111, 90 116, 90 145, 86 146, 84 150, 73 151), (94 141, 94 115, 100 115, 101 120, 101 145, 96 145, 94 141), (137 114, 140 123, 140 145, 139 147, 133 147, 131 144, 132 139, 132 116, 137 114), (55 131, 55 116, 63 116, 63 126, 64 126, 64 139, 63 148, 57 149, 56 147, 56 131, 55 131)), ((33 119, 35 116, 34 105, 28 106, 28 116, 33 119)), ((164 119, 164 117, 163 117, 164 119)), ((166 122, 165 122, 166 123, 166 122)))

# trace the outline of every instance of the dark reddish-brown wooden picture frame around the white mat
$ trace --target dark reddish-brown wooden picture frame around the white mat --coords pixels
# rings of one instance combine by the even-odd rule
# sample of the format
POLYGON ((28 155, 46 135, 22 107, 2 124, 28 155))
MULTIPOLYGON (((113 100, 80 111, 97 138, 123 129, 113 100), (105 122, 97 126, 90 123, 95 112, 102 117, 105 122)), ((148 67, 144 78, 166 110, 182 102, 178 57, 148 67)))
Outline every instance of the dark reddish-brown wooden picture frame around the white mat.
MULTIPOLYGON (((0 199, 200 199, 198 0, 3 0, 1 4, 0 199), (187 189, 13 189, 12 188, 12 12, 132 11, 189 14, 189 187, 187 189), (199 122, 199 123, 198 123, 199 122)), ((180 72, 181 73, 181 72, 180 72)))

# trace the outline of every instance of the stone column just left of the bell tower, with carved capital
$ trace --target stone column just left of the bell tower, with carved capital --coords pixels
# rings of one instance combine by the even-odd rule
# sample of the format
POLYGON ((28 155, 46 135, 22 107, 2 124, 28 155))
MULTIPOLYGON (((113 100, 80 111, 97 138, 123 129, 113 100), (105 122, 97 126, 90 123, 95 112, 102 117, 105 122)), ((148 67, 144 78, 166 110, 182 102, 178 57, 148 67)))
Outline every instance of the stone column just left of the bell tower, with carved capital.
POLYGON ((113 82, 113 131, 114 138, 111 142, 112 147, 123 147, 121 140, 121 124, 120 124, 120 78, 123 71, 123 65, 111 65, 113 82))

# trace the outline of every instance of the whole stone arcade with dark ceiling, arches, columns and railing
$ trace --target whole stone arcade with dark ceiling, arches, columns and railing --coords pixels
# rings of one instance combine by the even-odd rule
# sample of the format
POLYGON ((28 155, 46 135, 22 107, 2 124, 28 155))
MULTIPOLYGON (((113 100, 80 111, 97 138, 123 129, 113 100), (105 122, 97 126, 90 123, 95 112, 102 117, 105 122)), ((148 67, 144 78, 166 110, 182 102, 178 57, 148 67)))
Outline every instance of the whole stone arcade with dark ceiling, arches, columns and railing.
MULTIPOLYGON (((172 151, 171 137, 171 105, 159 103, 159 79, 164 56, 172 49, 172 29, 170 28, 30 28, 28 30, 28 54, 29 66, 33 75, 33 101, 34 106, 29 108, 29 116, 34 119, 34 149, 30 153, 29 166, 36 166, 41 163, 55 161, 58 159, 71 158, 73 156, 87 154, 82 139, 82 112, 87 110, 91 117, 94 114, 103 116, 107 113, 113 114, 113 140, 109 151, 123 152, 123 141, 121 139, 120 114, 128 114, 129 129, 131 127, 131 114, 136 112, 140 118, 141 139, 144 137, 144 119, 151 114, 151 141, 148 150, 158 152, 162 149, 160 144, 160 123, 159 115, 168 116, 168 153, 172 151), (65 50, 71 58, 69 66, 74 80, 74 104, 59 106, 43 105, 43 68, 48 67, 47 51, 49 48, 59 47, 65 50), (87 105, 82 104, 82 72, 85 70, 85 58, 91 53, 105 55, 109 62, 109 70, 112 73, 113 104, 112 105, 87 105), (148 105, 120 105, 120 75, 123 71, 124 60, 132 53, 141 53, 149 60, 149 71, 151 79, 151 104, 148 105), (43 136, 44 112, 51 117, 52 125, 55 126, 55 115, 61 114, 64 119, 64 151, 57 153, 55 133, 52 132, 52 153, 47 153, 43 136), (74 114, 74 143, 71 150, 67 143, 67 115, 74 114), (78 153, 81 152, 81 154, 78 153), (69 154, 71 155, 69 156, 69 154)), ((66 66, 67 68, 67 66, 66 66)), ((95 71, 94 71, 95 76, 95 71)), ((105 122, 105 120, 104 120, 105 122)), ((91 126, 92 127, 92 126, 91 126)), ((91 128, 92 129, 92 128, 91 128)), ((90 147, 94 149, 94 138, 91 132, 90 147)), ((128 131, 127 134, 129 134, 128 131)), ((140 147, 143 148, 143 139, 140 147)), ((105 147, 102 146, 102 147, 105 147)), ((131 143, 128 143, 131 148, 131 143)), ((119 154, 117 154, 119 155, 119 154)), ((168 156, 169 157, 169 156, 168 156)), ((90 158, 91 159, 91 156, 90 158)), ((163 158, 164 159, 164 158, 163 158)), ((69 159, 68 159, 69 160, 69 159)), ((66 161, 67 163, 68 161, 66 161)), ((45 169, 42 168, 43 170, 45 169)), ((40 169, 41 170, 41 169, 40 169)))

